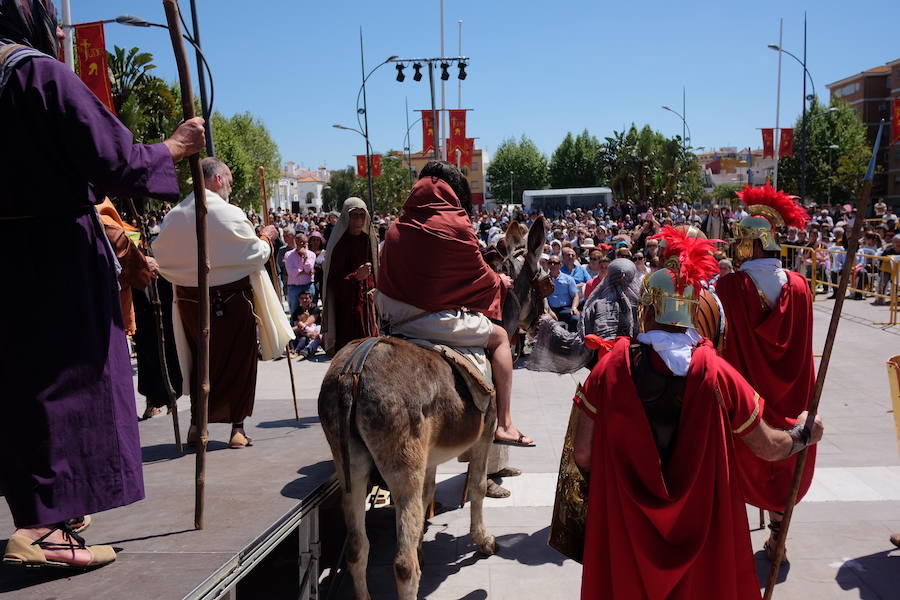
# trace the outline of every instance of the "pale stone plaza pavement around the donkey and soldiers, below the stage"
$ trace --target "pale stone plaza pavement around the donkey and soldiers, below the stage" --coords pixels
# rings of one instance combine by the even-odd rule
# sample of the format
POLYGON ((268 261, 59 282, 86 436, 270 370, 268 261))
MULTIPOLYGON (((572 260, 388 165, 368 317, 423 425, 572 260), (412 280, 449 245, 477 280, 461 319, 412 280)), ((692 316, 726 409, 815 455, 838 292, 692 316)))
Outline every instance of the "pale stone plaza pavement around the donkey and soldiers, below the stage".
MULTIPOLYGON (((820 296, 821 298, 821 296, 820 296)), ((821 352, 833 302, 815 303, 815 347, 821 352)), ((888 541, 900 531, 900 459, 885 362, 900 354, 900 327, 873 321, 887 309, 845 302, 821 412, 826 423, 813 487, 794 513, 788 540, 789 568, 782 571, 777 599, 900 598, 900 550, 888 541)), ((301 365, 315 377, 321 365, 301 365)), ((468 537, 468 506, 436 516, 425 534, 420 597, 435 600, 577 598, 581 567, 547 546, 560 445, 577 376, 517 369, 513 414, 538 447, 513 449, 510 463, 524 475, 503 481, 512 496, 486 499, 485 522, 501 550, 478 558, 468 537)), ((458 505, 464 465, 438 469, 437 499, 458 505)), ((751 527, 758 511, 748 508, 751 527)), ((369 583, 373 597, 394 598, 394 521, 391 508, 368 515, 369 583)), ((751 532, 761 581, 768 562, 761 552, 766 532, 751 532)), ((352 598, 349 576, 340 598, 352 598)))

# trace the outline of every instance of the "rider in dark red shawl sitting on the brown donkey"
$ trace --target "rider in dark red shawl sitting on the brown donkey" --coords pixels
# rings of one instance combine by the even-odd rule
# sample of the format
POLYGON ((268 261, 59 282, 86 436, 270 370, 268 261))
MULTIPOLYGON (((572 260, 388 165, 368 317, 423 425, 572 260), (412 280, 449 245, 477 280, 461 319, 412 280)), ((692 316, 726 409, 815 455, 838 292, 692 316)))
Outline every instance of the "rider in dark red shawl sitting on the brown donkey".
POLYGON ((376 303, 393 335, 490 353, 497 392, 495 444, 531 447, 510 413, 512 352, 507 332, 491 319, 512 285, 484 261, 468 217, 469 182, 448 162, 429 162, 388 230, 381 251, 376 303))

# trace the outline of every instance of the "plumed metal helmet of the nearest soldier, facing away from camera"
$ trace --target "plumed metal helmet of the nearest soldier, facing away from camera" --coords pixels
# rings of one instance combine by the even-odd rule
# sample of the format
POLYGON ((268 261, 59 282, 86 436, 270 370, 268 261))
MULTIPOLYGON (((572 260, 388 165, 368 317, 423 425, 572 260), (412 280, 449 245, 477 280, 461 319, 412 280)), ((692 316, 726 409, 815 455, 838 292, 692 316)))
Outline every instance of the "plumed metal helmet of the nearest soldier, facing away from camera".
POLYGON ((659 234, 663 266, 641 283, 641 308, 652 306, 657 323, 694 327, 702 282, 719 271, 715 246, 705 237, 692 236, 687 228, 666 225, 659 234))

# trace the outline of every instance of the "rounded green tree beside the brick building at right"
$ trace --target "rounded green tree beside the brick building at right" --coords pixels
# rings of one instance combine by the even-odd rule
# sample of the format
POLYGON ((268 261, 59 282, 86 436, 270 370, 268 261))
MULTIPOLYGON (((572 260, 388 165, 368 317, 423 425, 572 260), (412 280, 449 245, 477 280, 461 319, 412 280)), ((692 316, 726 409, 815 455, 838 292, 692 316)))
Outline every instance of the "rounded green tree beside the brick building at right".
MULTIPOLYGON (((869 157, 866 126, 842 100, 829 108, 813 100, 806 126, 806 198, 819 204, 845 204, 859 195, 869 157), (832 149, 831 146, 837 146, 832 149)), ((802 117, 794 126, 794 155, 778 161, 778 187, 800 194, 800 150, 804 143, 802 117)))

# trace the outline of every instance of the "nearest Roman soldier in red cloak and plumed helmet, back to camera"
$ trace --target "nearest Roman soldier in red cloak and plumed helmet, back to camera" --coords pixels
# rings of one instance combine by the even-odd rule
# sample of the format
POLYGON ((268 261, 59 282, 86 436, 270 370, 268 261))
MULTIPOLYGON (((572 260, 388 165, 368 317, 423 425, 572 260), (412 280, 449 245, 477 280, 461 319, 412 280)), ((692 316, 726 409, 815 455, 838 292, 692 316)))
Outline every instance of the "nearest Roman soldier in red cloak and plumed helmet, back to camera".
POLYGON ((790 431, 695 330, 712 242, 664 228, 665 266, 643 280, 636 339, 618 338, 576 393, 576 464, 589 473, 581 597, 759 598, 736 450, 762 461, 822 437, 790 431), (739 443, 738 441, 739 440, 739 443))

